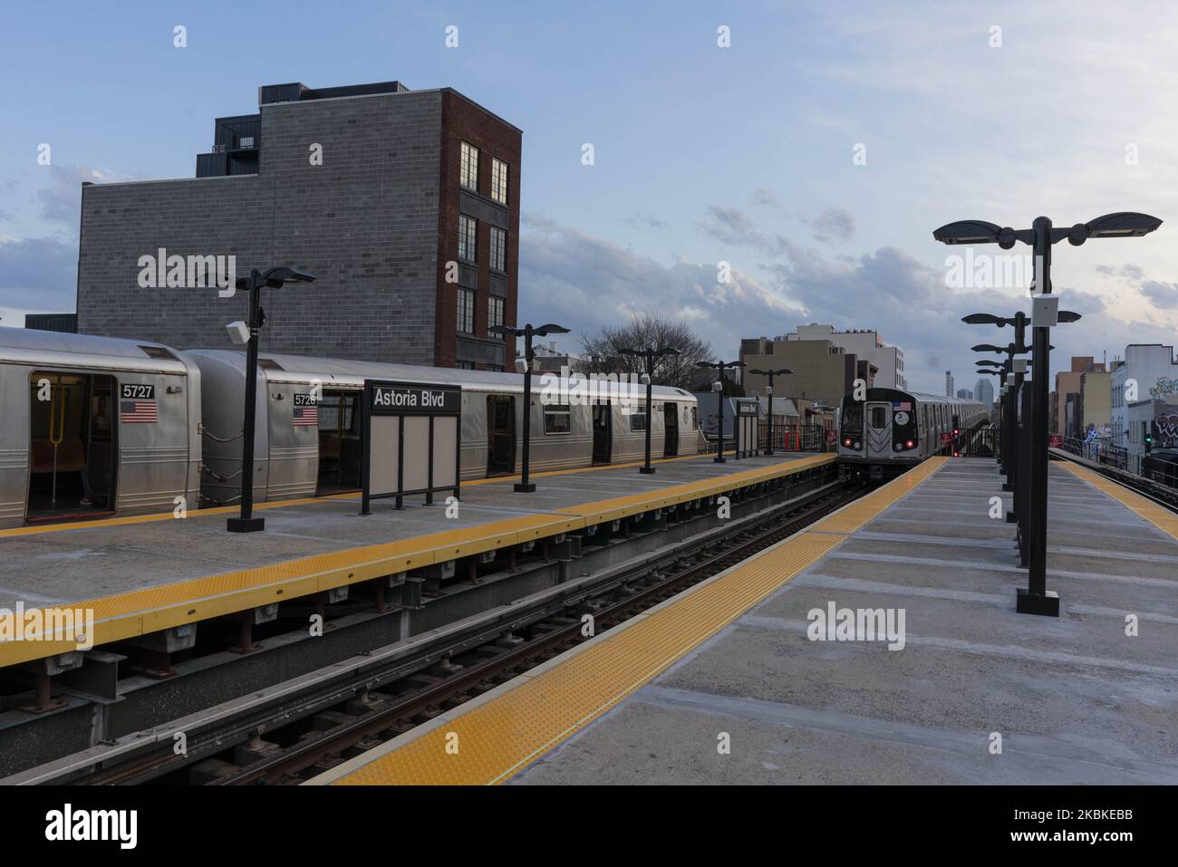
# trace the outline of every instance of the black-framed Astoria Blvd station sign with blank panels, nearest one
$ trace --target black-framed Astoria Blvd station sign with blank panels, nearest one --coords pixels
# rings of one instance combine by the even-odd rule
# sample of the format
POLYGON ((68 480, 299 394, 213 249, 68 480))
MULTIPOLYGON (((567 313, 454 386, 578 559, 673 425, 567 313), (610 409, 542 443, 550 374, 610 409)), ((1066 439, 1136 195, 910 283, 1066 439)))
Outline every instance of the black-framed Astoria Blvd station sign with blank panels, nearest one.
POLYGON ((459 495, 462 388, 432 383, 364 380, 360 514, 371 501, 439 491, 459 495))

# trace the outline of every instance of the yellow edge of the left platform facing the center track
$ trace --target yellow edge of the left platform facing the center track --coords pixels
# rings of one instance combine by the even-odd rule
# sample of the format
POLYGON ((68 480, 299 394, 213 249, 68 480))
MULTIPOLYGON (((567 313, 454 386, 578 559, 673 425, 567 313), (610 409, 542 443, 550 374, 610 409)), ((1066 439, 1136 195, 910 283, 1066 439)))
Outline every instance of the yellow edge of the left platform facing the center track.
MULTIPOLYGON (((673 485, 655 494, 636 494, 575 507, 570 511, 528 515, 396 542, 349 548, 94 600, 66 602, 59 608, 92 609, 93 643, 108 644, 344 584, 569 532, 623 515, 715 496, 828 464, 834 459, 834 455, 815 455, 782 461, 770 466, 673 485)), ((45 658, 73 650, 74 647, 72 641, 0 642, 0 667, 45 658)))

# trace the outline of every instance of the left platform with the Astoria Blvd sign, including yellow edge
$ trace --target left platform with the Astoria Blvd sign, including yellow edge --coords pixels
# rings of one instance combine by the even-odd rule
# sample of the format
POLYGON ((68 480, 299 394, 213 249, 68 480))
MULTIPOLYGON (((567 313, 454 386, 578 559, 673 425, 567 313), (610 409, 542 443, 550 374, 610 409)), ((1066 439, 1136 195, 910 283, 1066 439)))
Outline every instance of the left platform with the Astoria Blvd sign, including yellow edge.
MULTIPOLYGON (((709 456, 540 474, 537 490, 512 478, 464 483, 458 516, 445 507, 359 495, 266 503, 265 532, 231 534, 236 509, 28 527, 0 531, 0 608, 90 608, 95 643, 193 623, 437 562, 543 540, 808 468, 834 455, 777 455, 717 464, 709 456)), ((49 641, 0 643, 0 666, 73 649, 49 641)))

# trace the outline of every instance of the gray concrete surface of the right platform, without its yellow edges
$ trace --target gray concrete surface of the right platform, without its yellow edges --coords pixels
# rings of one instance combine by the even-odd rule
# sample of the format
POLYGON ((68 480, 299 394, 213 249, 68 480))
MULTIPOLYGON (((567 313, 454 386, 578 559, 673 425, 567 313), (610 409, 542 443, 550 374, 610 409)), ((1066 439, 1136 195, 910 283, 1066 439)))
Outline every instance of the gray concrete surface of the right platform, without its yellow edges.
POLYGON ((1058 620, 1014 613, 995 465, 955 459, 512 782, 1178 783, 1178 541, 1050 491, 1058 620), (904 649, 808 640, 832 602, 905 609, 904 649))

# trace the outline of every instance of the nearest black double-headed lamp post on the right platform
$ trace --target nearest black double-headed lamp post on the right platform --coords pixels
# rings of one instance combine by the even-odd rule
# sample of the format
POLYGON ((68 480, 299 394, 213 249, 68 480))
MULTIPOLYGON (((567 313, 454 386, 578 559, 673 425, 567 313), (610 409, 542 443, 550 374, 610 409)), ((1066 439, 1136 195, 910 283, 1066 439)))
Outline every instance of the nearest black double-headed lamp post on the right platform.
MULTIPOLYGON (((1047 590, 1047 399, 1051 375, 1048 335, 1059 322, 1059 300, 1051 297, 1051 247, 1067 238, 1080 246, 1088 238, 1139 238, 1162 225, 1162 220, 1144 213, 1121 211, 1105 214, 1071 229, 1055 229, 1047 217, 1035 217, 1031 229, 1014 230, 982 220, 949 223, 933 232, 942 244, 998 244, 1010 250, 1015 241, 1034 250, 1034 286, 1032 287, 1032 372, 1031 372, 1031 556, 1027 589, 1019 589, 1017 610, 1020 614, 1059 616, 1059 595, 1047 590)), ((1078 318, 1078 317, 1077 317, 1078 318)))

